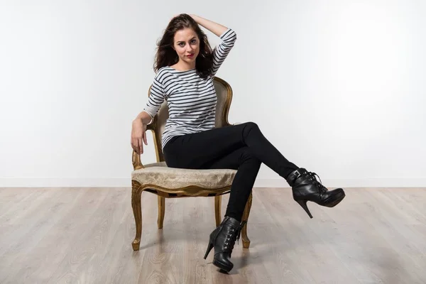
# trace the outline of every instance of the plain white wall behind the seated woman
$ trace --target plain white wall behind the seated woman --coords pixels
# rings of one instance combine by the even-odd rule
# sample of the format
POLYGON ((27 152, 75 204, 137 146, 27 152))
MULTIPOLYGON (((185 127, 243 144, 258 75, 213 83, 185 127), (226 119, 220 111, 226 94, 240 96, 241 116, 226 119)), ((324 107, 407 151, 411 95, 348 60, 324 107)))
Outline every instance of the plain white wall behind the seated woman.
MULTIPOLYGON (((329 187, 426 186, 425 1, 200 3, 1 1, 0 186, 130 186, 131 121, 181 12, 238 35, 231 123, 329 187)), ((265 165, 256 186, 288 187, 265 165)))

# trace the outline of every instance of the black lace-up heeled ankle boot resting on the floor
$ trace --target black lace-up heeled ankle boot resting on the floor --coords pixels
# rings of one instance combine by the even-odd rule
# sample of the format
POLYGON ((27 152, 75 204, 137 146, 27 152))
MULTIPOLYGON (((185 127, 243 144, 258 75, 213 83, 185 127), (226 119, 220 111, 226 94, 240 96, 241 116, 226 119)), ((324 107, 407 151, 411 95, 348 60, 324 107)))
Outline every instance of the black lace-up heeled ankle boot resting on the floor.
POLYGON ((207 246, 204 259, 214 247, 213 264, 226 272, 231 271, 234 268, 234 263, 230 261, 232 249, 234 249, 236 239, 240 237, 244 224, 245 222, 240 224, 238 220, 226 216, 210 234, 209 246, 207 246))

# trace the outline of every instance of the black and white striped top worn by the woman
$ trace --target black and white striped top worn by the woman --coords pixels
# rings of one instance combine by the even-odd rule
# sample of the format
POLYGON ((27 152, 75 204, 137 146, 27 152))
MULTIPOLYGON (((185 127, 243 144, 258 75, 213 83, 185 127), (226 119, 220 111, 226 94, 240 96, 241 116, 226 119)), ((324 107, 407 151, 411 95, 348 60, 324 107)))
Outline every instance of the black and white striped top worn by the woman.
POLYGON ((151 118, 166 100, 169 118, 165 124, 162 148, 173 136, 214 129, 217 95, 213 77, 236 41, 229 28, 220 36, 222 42, 213 50, 212 76, 202 79, 197 70, 178 71, 162 67, 155 75, 146 107, 151 118))

